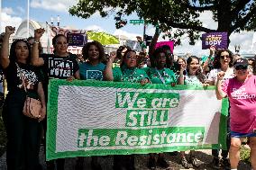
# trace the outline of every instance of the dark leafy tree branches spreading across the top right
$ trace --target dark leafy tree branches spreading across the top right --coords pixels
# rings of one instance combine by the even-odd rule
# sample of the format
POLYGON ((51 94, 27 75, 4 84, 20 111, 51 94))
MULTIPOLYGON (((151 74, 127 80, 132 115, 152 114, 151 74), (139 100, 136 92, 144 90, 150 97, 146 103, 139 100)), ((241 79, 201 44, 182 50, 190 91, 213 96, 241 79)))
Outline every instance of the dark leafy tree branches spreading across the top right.
POLYGON ((172 32, 169 38, 187 33, 191 45, 200 38, 199 32, 226 31, 230 36, 233 32, 256 30, 255 0, 79 0, 69 13, 82 18, 94 13, 103 17, 137 13, 147 23, 159 24, 161 31, 172 32), (218 23, 216 30, 200 22, 200 13, 206 11, 213 13, 212 20, 218 23))

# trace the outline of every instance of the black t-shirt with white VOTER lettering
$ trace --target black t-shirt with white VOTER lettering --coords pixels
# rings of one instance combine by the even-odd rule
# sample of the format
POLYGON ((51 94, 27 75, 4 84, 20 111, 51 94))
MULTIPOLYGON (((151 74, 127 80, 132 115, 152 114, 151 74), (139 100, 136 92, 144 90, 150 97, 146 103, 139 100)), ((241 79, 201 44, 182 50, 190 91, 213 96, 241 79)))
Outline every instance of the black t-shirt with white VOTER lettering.
POLYGON ((74 76, 79 69, 77 56, 74 54, 69 54, 67 58, 53 54, 41 54, 41 58, 44 60, 43 71, 47 79, 67 79, 69 76, 74 76))

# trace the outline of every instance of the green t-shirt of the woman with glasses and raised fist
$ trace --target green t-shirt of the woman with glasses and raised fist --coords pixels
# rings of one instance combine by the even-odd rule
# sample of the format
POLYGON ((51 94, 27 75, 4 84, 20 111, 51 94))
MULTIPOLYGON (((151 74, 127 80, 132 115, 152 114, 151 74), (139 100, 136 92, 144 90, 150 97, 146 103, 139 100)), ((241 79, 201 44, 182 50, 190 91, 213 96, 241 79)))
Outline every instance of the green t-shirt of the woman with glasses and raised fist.
POLYGON ((123 66, 113 68, 114 82, 140 83, 143 79, 149 78, 146 72, 140 68, 128 68, 123 66))

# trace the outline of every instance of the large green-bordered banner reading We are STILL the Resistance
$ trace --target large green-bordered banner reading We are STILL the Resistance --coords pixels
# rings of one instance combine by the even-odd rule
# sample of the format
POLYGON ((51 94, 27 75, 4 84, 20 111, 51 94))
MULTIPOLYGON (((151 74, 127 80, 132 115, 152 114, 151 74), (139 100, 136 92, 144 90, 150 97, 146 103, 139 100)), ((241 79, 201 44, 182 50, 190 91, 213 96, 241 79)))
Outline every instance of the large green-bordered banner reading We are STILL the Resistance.
POLYGON ((49 90, 48 160, 225 147, 227 101, 214 86, 50 80, 49 90))

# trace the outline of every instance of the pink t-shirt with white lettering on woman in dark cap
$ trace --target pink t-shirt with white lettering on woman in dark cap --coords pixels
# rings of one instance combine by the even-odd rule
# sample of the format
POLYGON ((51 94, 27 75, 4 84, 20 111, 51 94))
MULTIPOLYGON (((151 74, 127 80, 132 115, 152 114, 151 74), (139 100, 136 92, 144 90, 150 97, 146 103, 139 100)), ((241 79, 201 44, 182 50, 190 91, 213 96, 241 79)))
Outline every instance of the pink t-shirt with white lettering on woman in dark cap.
POLYGON ((256 130, 256 76, 250 76, 244 83, 235 77, 227 79, 223 91, 230 101, 231 130, 240 133, 256 130))

